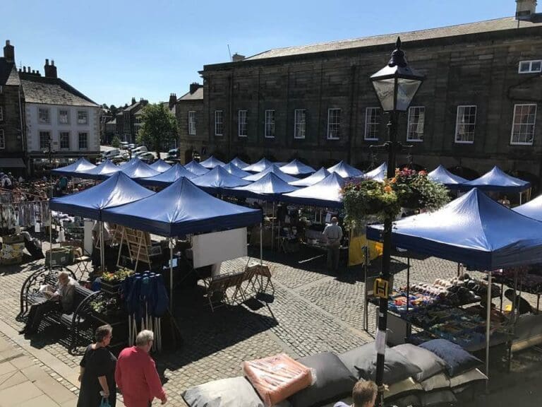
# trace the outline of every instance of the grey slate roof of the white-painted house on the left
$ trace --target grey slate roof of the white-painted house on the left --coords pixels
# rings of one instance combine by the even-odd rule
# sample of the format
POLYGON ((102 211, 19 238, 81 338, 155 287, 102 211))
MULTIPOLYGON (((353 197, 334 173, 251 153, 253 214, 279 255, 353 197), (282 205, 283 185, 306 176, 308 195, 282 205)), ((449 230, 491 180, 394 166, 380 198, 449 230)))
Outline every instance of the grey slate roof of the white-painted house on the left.
POLYGON ((46 78, 19 72, 20 84, 23 87, 27 103, 43 103, 44 105, 92 106, 97 103, 80 93, 60 78, 46 78))

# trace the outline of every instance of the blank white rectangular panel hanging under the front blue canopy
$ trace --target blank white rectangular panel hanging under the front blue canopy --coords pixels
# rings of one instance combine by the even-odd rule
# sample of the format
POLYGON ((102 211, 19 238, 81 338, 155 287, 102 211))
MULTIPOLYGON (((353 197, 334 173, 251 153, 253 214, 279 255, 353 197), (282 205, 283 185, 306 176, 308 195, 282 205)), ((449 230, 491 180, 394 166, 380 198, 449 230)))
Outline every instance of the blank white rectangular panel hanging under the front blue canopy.
POLYGON ((194 269, 246 256, 246 228, 192 237, 194 269))

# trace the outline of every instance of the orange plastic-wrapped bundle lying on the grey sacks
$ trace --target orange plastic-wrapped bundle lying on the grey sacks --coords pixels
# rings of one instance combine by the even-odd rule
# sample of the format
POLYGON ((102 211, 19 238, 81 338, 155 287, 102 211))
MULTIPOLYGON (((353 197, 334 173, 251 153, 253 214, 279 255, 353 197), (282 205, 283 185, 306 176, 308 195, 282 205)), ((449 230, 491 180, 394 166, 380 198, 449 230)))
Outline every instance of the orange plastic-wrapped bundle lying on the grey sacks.
POLYGON ((284 353, 243 362, 243 372, 266 407, 275 406, 313 383, 311 369, 284 353))

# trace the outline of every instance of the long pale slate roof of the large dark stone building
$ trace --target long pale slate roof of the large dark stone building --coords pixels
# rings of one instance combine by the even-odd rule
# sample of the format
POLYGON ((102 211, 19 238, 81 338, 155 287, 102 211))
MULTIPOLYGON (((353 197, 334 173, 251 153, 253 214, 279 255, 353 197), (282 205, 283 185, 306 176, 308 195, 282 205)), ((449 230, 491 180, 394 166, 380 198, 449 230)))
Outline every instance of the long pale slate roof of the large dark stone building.
MULTIPOLYGON (((538 17, 538 15, 536 15, 536 17, 538 17)), ((533 22, 515 20, 514 17, 498 18, 495 20, 479 21, 477 23, 450 25, 448 27, 441 28, 431 28, 429 30, 375 35, 373 37, 362 37, 352 40, 320 42, 318 44, 312 45, 301 45, 300 47, 270 49, 268 51, 260 52, 260 54, 255 54, 252 57, 248 57, 244 60, 253 61, 256 59, 289 57, 299 54, 314 54, 317 52, 339 51, 342 49, 386 45, 394 43, 395 40, 397 40, 397 36, 401 37, 402 42, 410 42, 418 40, 434 40, 437 38, 455 37, 458 35, 490 33, 503 30, 517 30, 518 28, 532 28, 541 26, 541 18, 536 18, 533 22)))

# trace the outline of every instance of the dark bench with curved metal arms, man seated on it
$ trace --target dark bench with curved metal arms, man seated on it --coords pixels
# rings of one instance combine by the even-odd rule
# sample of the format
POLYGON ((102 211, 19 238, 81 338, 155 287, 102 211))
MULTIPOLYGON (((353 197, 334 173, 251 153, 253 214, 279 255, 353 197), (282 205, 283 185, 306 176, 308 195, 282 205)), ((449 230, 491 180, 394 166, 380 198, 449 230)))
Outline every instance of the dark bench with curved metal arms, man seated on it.
MULTIPOLYGON (((44 301, 44 298, 40 295, 40 286, 44 284, 49 284, 53 287, 56 286, 60 271, 68 271, 71 273, 71 277, 75 279, 73 272, 64 267, 57 267, 52 270, 48 268, 40 269, 28 276, 20 290, 19 319, 24 317, 32 305, 44 301)), ((85 324, 87 319, 92 315, 91 302, 99 300, 103 295, 101 291, 91 291, 82 285, 76 285, 76 292, 73 296, 74 311, 71 314, 63 314, 55 310, 44 315, 44 319, 60 324, 68 329, 70 334, 68 351, 70 353, 76 350, 81 332, 85 331, 91 325, 85 324)))

